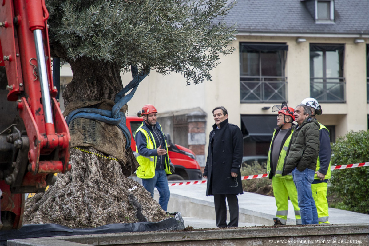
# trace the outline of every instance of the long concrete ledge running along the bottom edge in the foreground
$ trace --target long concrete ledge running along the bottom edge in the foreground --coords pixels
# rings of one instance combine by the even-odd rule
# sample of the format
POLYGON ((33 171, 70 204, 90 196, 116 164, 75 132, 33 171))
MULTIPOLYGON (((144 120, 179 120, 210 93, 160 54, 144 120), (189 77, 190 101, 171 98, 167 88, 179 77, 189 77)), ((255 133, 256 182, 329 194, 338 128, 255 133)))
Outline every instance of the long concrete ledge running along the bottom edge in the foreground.
POLYGON ((8 246, 154 245, 276 246, 368 245, 368 224, 225 228, 199 231, 158 231, 59 236, 8 240, 8 246), (68 244, 69 243, 69 244, 68 244))

